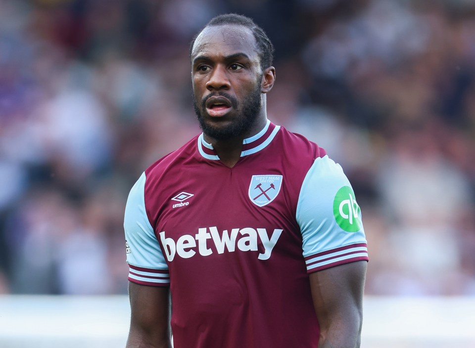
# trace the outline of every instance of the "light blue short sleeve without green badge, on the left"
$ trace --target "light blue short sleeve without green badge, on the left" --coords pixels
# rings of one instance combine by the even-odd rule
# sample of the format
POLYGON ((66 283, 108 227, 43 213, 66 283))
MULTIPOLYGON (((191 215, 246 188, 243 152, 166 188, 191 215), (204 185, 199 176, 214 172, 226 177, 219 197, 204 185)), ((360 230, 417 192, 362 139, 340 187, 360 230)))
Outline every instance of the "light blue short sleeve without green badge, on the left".
POLYGON ((129 281, 150 286, 169 286, 168 265, 145 211, 145 173, 130 191, 125 207, 124 230, 129 281))

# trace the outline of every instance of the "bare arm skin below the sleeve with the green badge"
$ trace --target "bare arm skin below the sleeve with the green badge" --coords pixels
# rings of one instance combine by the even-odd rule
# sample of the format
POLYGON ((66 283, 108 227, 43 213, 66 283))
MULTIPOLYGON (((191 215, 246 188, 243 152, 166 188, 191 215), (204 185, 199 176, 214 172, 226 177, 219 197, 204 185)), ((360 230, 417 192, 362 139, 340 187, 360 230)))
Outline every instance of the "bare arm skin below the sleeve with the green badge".
POLYGON ((356 261, 309 275, 322 337, 338 332, 359 337, 366 266, 366 261, 356 261), (337 330, 333 331, 334 328, 337 330))

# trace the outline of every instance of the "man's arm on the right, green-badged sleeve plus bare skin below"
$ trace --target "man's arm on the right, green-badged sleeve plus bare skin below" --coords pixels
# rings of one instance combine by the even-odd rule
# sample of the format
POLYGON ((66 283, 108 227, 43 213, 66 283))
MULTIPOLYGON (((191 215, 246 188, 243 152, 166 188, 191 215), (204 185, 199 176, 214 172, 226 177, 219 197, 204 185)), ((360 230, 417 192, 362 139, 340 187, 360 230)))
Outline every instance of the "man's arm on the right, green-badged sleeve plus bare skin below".
POLYGON ((359 347, 367 242, 351 184, 328 156, 317 158, 308 171, 296 218, 321 346, 332 337, 336 347, 359 347))

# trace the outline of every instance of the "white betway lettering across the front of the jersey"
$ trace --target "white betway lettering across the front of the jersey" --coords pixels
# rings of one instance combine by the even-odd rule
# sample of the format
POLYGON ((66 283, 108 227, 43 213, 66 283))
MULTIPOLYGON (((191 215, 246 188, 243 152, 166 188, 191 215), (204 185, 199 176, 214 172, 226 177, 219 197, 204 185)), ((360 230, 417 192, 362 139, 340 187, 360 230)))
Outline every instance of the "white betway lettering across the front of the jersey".
POLYGON ((241 251, 257 251, 260 240, 264 247, 264 252, 259 253, 257 258, 259 260, 267 260, 271 257, 272 250, 276 246, 282 231, 281 229, 274 229, 271 238, 269 238, 265 228, 258 228, 256 230, 251 227, 244 227, 241 229, 233 228, 231 235, 228 230, 224 230, 220 236, 216 226, 203 227, 198 228, 198 233, 194 236, 182 235, 176 243, 172 238, 165 236, 165 231, 160 232, 159 235, 168 261, 173 261, 176 254, 183 258, 190 258, 197 252, 202 256, 211 255, 213 249, 208 248, 209 239, 212 240, 219 254, 224 253, 225 249, 228 252, 234 252, 236 247, 241 251), (241 235, 239 238, 238 234, 241 235))

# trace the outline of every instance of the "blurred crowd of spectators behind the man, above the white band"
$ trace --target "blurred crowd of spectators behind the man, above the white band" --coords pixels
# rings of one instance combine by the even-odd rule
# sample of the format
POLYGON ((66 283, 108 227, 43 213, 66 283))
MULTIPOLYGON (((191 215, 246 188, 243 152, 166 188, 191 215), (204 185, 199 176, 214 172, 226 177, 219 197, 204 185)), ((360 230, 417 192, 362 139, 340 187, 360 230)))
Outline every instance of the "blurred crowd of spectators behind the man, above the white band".
POLYGON ((276 47, 268 116, 341 163, 368 295, 475 295, 475 3, 0 0, 0 293, 125 294, 142 171, 200 132, 188 47, 214 15, 276 47))

